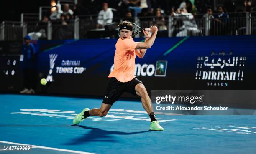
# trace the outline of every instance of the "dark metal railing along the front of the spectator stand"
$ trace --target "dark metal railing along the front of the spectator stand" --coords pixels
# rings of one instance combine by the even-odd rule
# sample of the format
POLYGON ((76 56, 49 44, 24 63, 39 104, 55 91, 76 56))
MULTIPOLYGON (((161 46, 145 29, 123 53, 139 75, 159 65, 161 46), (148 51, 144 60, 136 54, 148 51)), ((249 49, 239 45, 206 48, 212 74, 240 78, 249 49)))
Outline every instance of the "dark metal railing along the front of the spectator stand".
MULTIPOLYGON (((228 13, 228 18, 214 18, 209 15, 198 15, 197 18, 186 16, 161 16, 145 18, 114 18, 110 29, 116 30, 118 23, 128 20, 141 27, 158 26, 159 37, 172 36, 208 36, 208 35, 251 35, 256 34, 255 13, 228 13)), ((76 17, 67 24, 49 21, 42 22, 3 22, 1 24, 1 40, 19 40, 26 34, 40 34, 40 39, 84 39, 94 35, 97 38, 117 37, 109 31, 98 27, 97 15, 76 17), (104 33, 104 34, 103 34, 104 33), (89 35, 90 34, 90 35, 89 35)), ((56 20, 59 21, 59 20, 56 20)), ((143 37, 143 33, 136 35, 143 37)), ((39 38, 38 38, 39 39, 39 38)))

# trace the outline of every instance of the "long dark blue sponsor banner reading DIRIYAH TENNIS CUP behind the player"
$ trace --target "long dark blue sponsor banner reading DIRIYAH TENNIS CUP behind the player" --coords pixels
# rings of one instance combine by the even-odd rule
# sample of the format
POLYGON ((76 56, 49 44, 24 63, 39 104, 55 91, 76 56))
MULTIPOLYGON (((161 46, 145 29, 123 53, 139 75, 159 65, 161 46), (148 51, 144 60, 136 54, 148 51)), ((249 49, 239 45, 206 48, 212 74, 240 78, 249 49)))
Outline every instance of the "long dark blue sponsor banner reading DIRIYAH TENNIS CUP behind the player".
MULTIPOLYGON (((154 89, 255 89, 255 36, 190 37, 167 52, 180 39, 157 38, 144 58, 136 57, 134 75, 143 82, 148 93, 154 89)), ((37 58, 37 92, 105 96, 108 75, 114 68, 116 41, 70 40, 41 52, 37 58), (41 78, 48 81, 44 87, 40 85, 41 78)), ((137 97, 128 93, 122 96, 137 97)))

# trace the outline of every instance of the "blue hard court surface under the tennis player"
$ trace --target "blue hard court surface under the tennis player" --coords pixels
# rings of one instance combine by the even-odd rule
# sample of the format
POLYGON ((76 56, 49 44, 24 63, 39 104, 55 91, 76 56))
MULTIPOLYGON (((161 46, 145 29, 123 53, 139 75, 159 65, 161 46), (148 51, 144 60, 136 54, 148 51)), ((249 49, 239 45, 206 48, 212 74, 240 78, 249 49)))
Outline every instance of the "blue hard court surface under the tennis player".
POLYGON ((72 126, 101 99, 0 95, 0 154, 255 154, 256 116, 157 115, 164 131, 148 131, 138 101, 118 101, 105 117, 72 126), (3 146, 32 145, 28 151, 3 146))

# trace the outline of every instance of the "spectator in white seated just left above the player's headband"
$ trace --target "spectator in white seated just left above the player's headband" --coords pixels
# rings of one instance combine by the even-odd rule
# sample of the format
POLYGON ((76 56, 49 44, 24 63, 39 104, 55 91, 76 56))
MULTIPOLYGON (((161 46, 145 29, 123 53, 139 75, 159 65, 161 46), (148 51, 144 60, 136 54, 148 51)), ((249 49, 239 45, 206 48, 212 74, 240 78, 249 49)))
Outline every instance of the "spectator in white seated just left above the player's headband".
POLYGON ((108 8, 108 3, 103 3, 103 10, 98 14, 98 25, 96 28, 103 28, 104 25, 112 23, 113 12, 108 8))

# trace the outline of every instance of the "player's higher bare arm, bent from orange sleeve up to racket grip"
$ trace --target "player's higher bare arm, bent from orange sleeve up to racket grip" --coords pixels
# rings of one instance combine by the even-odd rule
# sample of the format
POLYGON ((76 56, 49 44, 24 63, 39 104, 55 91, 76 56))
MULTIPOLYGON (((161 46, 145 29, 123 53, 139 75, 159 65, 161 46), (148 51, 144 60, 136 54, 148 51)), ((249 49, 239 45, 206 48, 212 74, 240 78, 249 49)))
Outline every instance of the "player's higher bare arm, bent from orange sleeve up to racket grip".
POLYGON ((148 48, 151 48, 151 46, 153 45, 153 43, 156 40, 157 27, 156 26, 151 26, 150 30, 152 31, 151 37, 148 38, 148 40, 146 40, 145 42, 138 42, 138 44, 137 44, 135 49, 148 49, 148 48))

